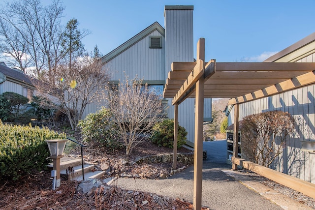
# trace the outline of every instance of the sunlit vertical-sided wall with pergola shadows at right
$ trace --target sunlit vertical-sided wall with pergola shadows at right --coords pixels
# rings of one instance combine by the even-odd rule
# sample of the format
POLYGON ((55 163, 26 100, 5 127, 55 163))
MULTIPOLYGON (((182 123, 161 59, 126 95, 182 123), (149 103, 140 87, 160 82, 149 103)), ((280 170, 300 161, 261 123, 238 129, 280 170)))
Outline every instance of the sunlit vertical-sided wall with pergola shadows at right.
MULTIPOLYGON (((315 62, 315 54, 296 62, 315 62)), ((241 104, 239 120, 248 115, 274 110, 289 112, 296 122, 296 132, 287 141, 283 155, 275 161, 273 168, 315 183, 315 153, 301 150, 301 141, 315 141, 315 85, 241 104)), ((231 109, 229 125, 234 121, 233 118, 231 109)))

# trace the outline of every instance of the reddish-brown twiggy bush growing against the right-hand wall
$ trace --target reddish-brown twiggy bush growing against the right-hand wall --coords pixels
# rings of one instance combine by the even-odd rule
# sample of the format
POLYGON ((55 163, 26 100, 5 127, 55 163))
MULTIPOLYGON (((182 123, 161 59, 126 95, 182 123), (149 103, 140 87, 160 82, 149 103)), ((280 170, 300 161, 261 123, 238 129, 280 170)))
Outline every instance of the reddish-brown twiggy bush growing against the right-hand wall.
POLYGON ((247 116, 242 121, 241 142, 245 158, 269 167, 283 152, 285 142, 294 132, 294 119, 282 111, 247 116))

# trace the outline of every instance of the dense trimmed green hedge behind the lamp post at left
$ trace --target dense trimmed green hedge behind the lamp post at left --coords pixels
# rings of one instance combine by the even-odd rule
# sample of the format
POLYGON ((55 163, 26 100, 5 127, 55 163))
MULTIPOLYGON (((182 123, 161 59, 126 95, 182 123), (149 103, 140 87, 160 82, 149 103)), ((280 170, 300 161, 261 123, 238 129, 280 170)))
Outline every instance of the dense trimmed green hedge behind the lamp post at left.
POLYGON ((0 121, 0 180, 18 180, 32 170, 45 169, 50 161, 46 139, 65 139, 65 135, 0 121))

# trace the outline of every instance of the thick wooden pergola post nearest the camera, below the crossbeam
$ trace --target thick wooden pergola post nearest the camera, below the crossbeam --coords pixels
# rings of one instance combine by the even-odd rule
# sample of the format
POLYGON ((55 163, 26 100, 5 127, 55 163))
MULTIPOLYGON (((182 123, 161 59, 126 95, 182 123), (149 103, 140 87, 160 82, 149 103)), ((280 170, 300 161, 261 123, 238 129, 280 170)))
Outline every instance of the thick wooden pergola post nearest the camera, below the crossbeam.
POLYGON ((203 77, 196 83, 196 113, 195 113, 195 144, 193 159, 193 207, 194 210, 201 209, 202 191, 202 151, 203 151, 203 77))

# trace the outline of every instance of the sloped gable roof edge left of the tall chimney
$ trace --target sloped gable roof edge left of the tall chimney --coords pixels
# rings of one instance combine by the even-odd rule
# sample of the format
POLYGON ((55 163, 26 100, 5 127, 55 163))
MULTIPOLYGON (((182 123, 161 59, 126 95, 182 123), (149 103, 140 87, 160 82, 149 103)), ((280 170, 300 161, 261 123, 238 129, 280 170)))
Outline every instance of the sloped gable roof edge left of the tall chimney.
POLYGON ((158 22, 155 22, 152 25, 150 25, 149 27, 147 27, 146 29, 140 31, 138 34, 136 34, 135 36, 133 36, 129 40, 127 40, 125 43, 121 44, 116 49, 112 50, 111 52, 109 52, 108 54, 103 56, 101 58, 102 62, 105 63, 105 62, 108 62, 109 60, 114 59, 116 56, 123 53, 126 49, 128 49, 129 47, 131 47, 132 45, 134 45, 135 43, 137 43, 141 39, 145 38, 148 34, 152 33, 155 30, 158 30, 158 32, 160 34, 165 36, 165 30, 163 29, 163 27, 161 27, 161 25, 159 25, 158 22))

